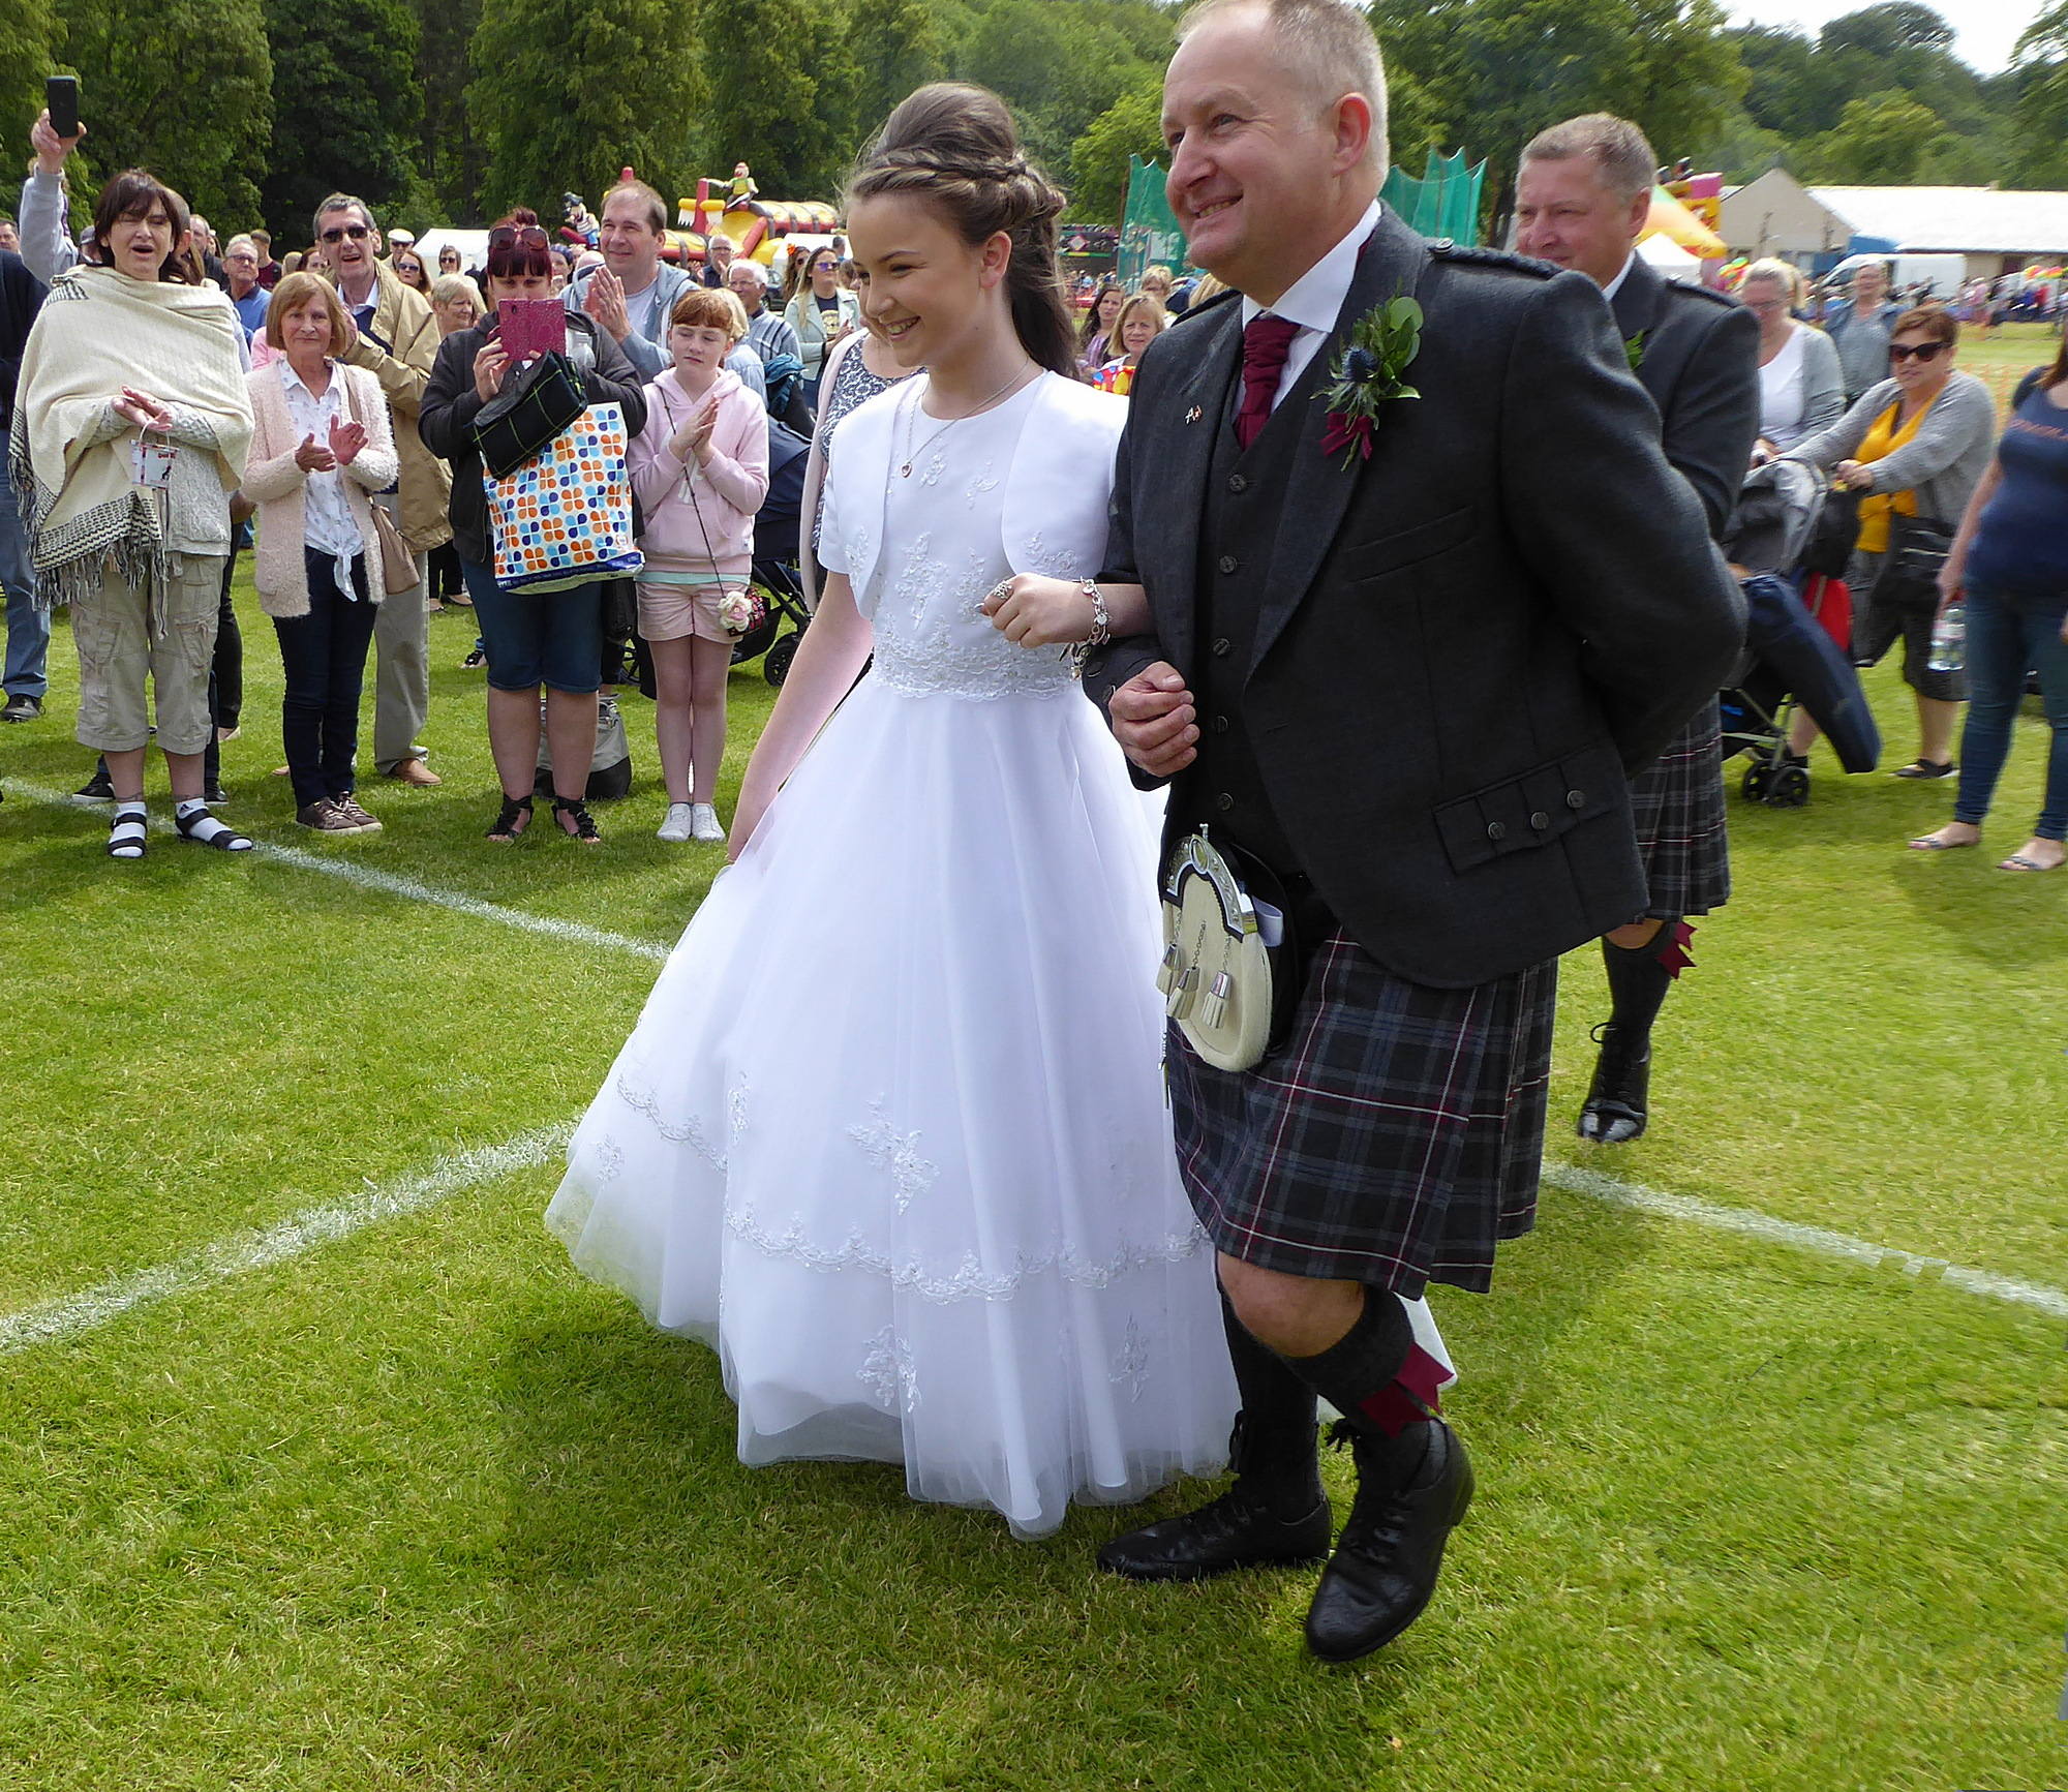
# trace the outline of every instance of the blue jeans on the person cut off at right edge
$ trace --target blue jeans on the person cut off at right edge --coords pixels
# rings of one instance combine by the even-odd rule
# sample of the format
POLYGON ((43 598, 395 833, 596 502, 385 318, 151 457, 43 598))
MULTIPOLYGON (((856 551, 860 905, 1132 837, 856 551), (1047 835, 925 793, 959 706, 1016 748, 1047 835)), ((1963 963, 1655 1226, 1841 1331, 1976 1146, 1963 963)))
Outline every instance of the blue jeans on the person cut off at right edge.
POLYGON ((1967 733, 1960 737, 1960 795, 1952 817, 1981 826, 2010 753, 2010 726, 2025 695, 2025 675, 2039 668, 2039 701, 2051 728, 2047 788, 2033 834, 2068 840, 2068 644, 2062 617, 2068 596, 1967 590, 1967 733))

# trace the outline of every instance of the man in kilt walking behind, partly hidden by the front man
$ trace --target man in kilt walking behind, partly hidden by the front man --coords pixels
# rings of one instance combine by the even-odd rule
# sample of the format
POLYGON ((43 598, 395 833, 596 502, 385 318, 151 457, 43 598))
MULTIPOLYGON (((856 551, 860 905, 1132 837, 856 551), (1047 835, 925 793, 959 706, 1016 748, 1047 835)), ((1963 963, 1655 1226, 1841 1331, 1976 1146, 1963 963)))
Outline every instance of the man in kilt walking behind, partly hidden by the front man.
MULTIPOLYGON (((1652 207, 1652 147, 1628 118, 1592 112, 1539 132, 1516 176, 1516 248, 1596 281, 1638 383, 1659 406, 1667 459, 1721 536, 1760 435, 1760 325, 1721 292, 1663 279, 1638 257, 1652 207)), ((1601 937, 1609 1018, 1580 1107, 1580 1138, 1621 1144, 1650 1109, 1652 1022, 1694 960, 1687 917, 1731 896, 1714 697, 1630 784, 1650 900, 1601 937)))

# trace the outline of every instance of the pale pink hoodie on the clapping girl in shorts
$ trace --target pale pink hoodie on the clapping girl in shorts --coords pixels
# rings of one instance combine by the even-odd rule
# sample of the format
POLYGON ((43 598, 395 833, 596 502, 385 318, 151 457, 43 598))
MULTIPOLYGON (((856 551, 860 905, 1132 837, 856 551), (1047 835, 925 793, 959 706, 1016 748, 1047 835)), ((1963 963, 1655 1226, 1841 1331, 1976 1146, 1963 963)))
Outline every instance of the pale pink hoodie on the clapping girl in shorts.
POLYGON ((678 573, 716 571, 744 579, 755 555, 755 511, 769 495, 769 418, 738 375, 720 372, 711 459, 685 466, 668 447, 703 399, 668 368, 647 383, 647 420, 631 445, 633 490, 645 511, 639 550, 678 573), (695 505, 691 503, 695 495, 695 505))

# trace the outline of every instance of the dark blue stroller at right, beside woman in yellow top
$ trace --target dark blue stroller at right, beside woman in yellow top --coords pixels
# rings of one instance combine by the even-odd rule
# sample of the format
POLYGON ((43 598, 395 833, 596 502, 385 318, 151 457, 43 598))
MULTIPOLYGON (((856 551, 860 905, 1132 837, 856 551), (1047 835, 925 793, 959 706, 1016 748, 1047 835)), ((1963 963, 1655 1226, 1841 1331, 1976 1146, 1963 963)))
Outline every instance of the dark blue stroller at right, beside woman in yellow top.
POLYGON ((1745 660, 1719 699, 1723 755, 1750 755, 1739 788, 1770 809, 1801 809, 1810 801, 1810 770, 1789 757, 1797 708, 1826 733, 1847 772, 1872 772, 1882 755, 1859 673, 1805 598, 1805 584, 1828 577, 1824 569, 1834 561, 1843 569, 1851 552, 1855 530, 1843 521, 1845 509, 1830 503, 1822 472, 1801 461, 1768 461, 1745 476, 1725 540, 1731 561, 1747 569, 1747 615, 1745 660))

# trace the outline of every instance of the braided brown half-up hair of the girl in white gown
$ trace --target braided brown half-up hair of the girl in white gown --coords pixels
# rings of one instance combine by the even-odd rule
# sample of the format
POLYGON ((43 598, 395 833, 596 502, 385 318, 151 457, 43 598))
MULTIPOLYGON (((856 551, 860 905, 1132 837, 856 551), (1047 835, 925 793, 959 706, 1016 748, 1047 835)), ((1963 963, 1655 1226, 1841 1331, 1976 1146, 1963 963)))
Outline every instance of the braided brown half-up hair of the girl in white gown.
POLYGON ((1048 372, 1077 379, 1075 319, 1057 259, 1063 192, 1026 155, 1013 118, 986 87, 937 81, 908 95, 848 178, 848 201, 924 199, 976 248, 1011 238, 1005 294, 1022 348, 1048 372))

